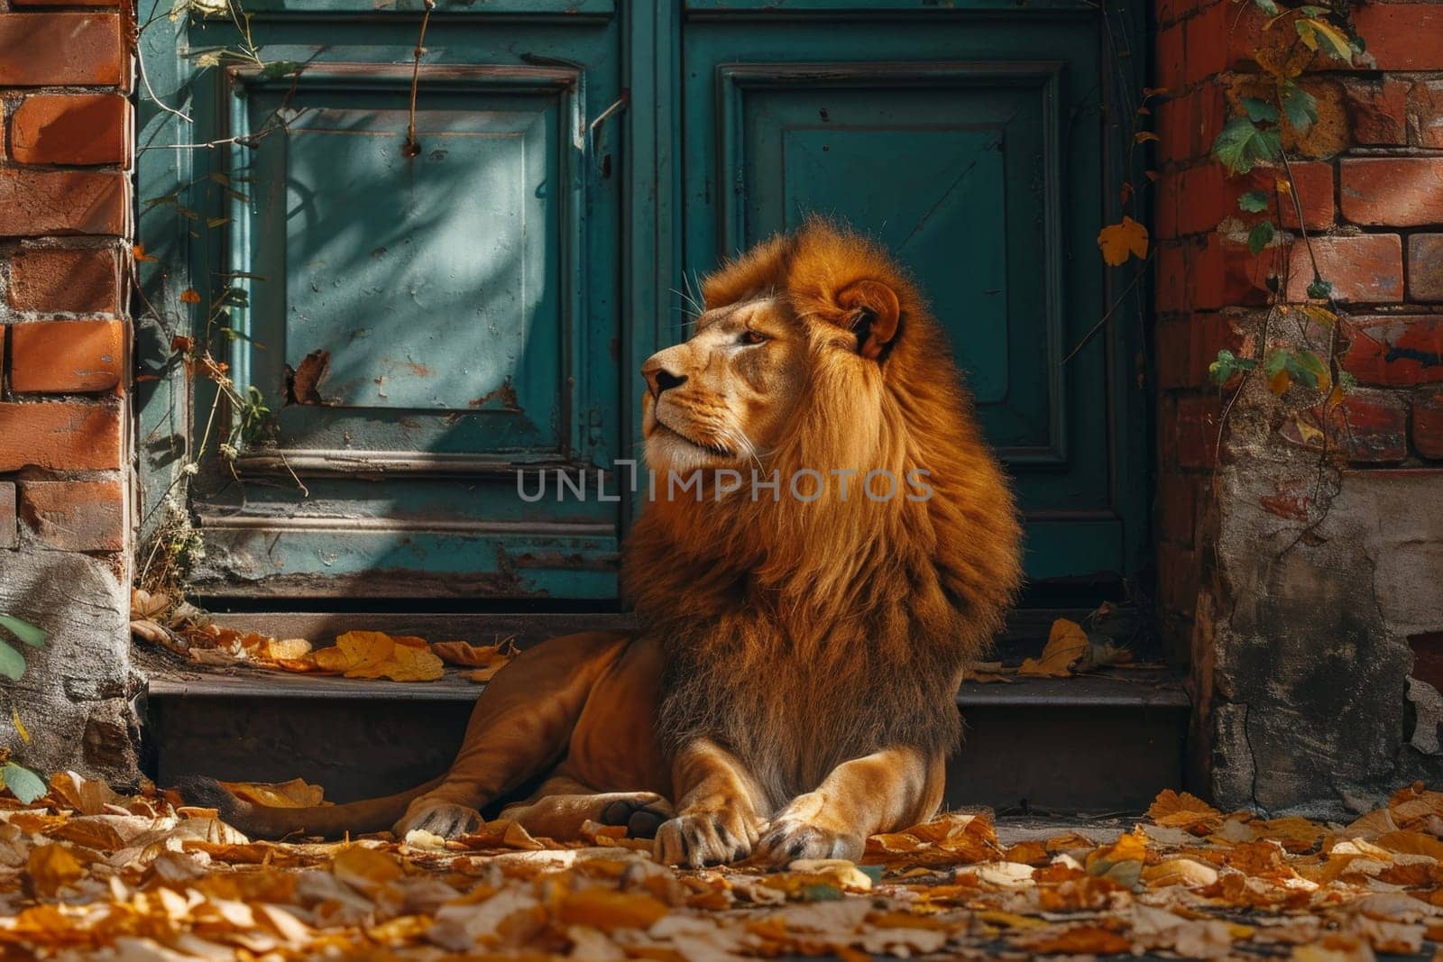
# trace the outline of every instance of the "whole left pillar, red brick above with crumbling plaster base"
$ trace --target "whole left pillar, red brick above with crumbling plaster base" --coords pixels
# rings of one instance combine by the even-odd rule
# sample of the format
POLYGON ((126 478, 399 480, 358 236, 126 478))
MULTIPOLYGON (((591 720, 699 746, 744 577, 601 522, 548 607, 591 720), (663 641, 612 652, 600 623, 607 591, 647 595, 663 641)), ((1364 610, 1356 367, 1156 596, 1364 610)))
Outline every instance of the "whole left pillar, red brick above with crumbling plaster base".
POLYGON ((0 744, 124 783, 134 25, 117 0, 63 6, 0 0, 0 612, 49 635, 0 681, 0 744))

